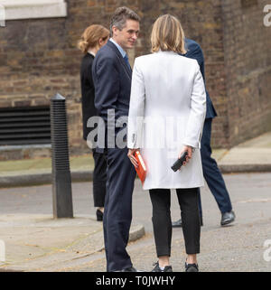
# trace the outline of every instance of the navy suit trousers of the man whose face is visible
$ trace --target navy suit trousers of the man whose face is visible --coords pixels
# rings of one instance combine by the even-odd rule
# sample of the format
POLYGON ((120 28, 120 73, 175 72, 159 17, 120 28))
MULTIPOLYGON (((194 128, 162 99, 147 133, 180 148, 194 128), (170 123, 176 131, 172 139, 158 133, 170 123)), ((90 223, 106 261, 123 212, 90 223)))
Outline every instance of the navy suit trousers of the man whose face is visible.
POLYGON ((107 148, 107 194, 104 210, 104 239, 107 272, 132 267, 126 252, 132 221, 135 168, 128 149, 107 148))

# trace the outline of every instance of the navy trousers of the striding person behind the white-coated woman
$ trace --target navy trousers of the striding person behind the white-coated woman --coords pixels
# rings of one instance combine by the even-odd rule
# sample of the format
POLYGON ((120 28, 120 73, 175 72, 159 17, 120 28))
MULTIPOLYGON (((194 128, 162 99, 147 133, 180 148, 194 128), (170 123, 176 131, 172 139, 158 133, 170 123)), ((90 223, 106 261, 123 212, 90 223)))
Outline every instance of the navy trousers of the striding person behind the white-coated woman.
MULTIPOLYGON (((212 118, 205 119, 202 137, 201 137, 201 162, 204 179, 207 182, 210 192, 217 201, 221 213, 232 210, 229 192, 227 191, 226 184, 220 173, 220 169, 216 161, 210 157, 210 133, 211 133, 212 118)), ((199 194, 199 197, 201 195, 199 194)), ((201 197, 199 198, 199 210, 202 216, 201 197)))

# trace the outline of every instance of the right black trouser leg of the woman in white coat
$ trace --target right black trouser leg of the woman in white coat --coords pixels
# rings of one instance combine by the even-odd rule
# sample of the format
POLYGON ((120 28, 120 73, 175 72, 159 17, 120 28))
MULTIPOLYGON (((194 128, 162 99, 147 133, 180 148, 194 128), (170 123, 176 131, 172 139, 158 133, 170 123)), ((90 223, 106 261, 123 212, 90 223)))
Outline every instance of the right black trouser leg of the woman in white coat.
POLYGON ((182 210, 182 232, 187 254, 200 253, 201 221, 198 206, 198 189, 177 189, 182 210))

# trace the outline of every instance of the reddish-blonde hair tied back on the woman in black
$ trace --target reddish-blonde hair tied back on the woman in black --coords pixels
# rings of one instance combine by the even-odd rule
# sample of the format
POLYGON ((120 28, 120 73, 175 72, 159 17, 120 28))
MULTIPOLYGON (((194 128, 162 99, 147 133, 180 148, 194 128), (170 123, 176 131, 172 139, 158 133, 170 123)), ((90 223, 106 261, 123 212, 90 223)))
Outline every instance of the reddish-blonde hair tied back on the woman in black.
POLYGON ((78 48, 83 53, 87 53, 89 48, 94 48, 98 45, 101 38, 105 41, 109 37, 109 31, 106 27, 98 24, 93 24, 87 27, 78 42, 78 48))

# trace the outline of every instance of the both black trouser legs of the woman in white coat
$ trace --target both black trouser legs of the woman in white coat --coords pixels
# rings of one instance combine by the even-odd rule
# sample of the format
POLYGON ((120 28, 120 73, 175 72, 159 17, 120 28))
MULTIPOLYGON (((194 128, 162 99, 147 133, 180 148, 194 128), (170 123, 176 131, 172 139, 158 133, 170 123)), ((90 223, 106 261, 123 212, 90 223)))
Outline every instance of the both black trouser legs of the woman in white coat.
MULTIPOLYGON (((171 191, 149 191, 153 204, 154 240, 157 257, 171 256, 172 219, 171 191)), ((198 188, 177 189, 182 215, 182 232, 187 254, 200 253, 201 223, 198 207, 198 188)))

